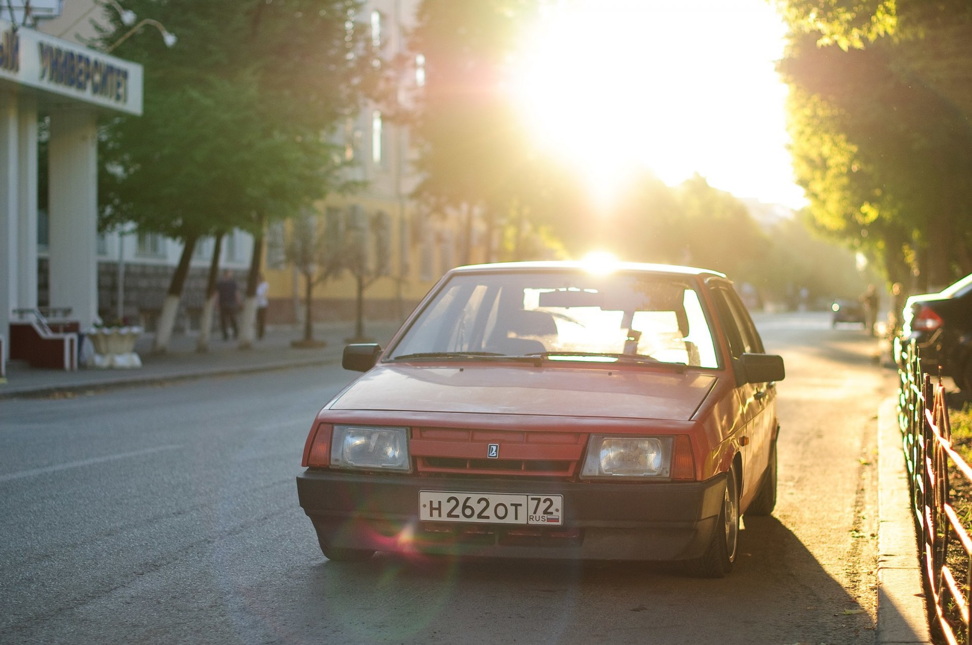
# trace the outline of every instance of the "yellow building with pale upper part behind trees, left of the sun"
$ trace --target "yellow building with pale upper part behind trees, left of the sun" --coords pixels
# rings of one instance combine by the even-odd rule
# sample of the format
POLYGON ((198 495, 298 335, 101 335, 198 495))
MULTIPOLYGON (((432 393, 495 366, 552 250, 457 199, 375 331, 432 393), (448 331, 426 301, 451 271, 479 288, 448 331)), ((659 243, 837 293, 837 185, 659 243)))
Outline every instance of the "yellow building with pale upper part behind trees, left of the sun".
MULTIPOLYGON (((360 21, 370 28, 375 46, 386 56, 403 55, 406 32, 418 0, 369 0, 360 21)), ((424 58, 414 57, 399 80, 399 102, 405 103, 425 83, 424 58)), ((408 129, 385 119, 378 106, 368 105, 349 119, 338 135, 345 158, 355 162, 348 179, 364 184, 353 195, 333 196, 317 204, 314 223, 277 222, 267 230, 264 274, 270 285, 269 324, 302 322, 305 278, 288 257, 295 237, 319 238, 322 246, 346 242, 352 229, 364 242, 364 273, 371 284, 364 290, 365 320, 402 320, 448 269, 460 253, 461 218, 457 214, 424 213, 409 195, 418 177, 411 169, 413 148, 408 129), (303 227, 301 227, 303 226, 303 227)), ((475 245, 473 239, 473 246, 475 245)), ((471 261, 485 261, 469 255, 471 261)), ((319 274, 323 267, 317 266, 319 274)), ((315 322, 346 321, 355 316, 358 281, 347 269, 313 289, 315 322)))

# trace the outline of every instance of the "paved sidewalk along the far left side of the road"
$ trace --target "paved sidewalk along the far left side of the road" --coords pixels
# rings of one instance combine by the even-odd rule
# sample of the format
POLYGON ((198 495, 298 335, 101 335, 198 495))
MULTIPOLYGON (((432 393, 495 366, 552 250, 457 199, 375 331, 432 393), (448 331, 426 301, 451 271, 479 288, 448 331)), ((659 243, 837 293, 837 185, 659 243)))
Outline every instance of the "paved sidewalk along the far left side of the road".
MULTIPOLYGON (((364 332, 384 347, 398 327, 398 322, 369 322, 364 325, 364 332)), ((327 346, 296 349, 291 347, 291 341, 302 338, 302 330, 279 328, 267 330, 253 349, 240 350, 235 340, 224 341, 217 333, 210 339, 209 352, 204 354, 195 351, 194 335, 173 336, 168 353, 154 355, 154 337, 147 334, 135 345, 143 363, 138 369, 83 368, 65 372, 35 369, 20 361, 9 362, 7 382, 0 383, 0 399, 336 363, 341 359, 345 339, 352 335, 354 322, 320 324, 315 327, 314 338, 327 341, 327 346)))

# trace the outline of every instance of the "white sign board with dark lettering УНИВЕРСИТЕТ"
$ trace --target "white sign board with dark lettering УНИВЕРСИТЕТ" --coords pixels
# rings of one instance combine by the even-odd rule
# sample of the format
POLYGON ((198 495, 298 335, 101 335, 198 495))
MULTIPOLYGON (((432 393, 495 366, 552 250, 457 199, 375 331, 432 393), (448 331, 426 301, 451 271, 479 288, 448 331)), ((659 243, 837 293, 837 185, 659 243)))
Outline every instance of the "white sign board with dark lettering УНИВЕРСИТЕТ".
POLYGON ((142 66, 0 20, 0 82, 142 114, 142 66))

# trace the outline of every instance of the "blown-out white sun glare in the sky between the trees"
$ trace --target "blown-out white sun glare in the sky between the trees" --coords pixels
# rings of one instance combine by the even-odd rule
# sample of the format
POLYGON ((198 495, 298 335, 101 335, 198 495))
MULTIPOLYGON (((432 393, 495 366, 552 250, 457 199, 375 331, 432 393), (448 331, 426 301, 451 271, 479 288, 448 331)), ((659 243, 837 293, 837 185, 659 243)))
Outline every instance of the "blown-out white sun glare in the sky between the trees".
POLYGON ((765 0, 562 0, 528 30, 514 98, 601 202, 646 168, 793 204, 783 33, 765 0))

